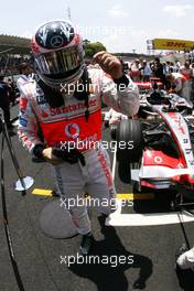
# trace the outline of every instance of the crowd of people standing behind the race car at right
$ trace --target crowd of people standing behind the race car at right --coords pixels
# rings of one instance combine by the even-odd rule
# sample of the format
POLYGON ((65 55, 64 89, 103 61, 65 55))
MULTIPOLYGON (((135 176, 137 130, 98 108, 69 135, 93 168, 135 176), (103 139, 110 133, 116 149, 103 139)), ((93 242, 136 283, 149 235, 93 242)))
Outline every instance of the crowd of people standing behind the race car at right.
POLYGON ((134 60, 128 64, 126 72, 133 82, 149 82, 151 77, 159 78, 166 90, 175 90, 181 97, 187 100, 194 99, 194 63, 186 60, 184 65, 179 61, 175 63, 161 63, 160 58, 148 62, 134 60))

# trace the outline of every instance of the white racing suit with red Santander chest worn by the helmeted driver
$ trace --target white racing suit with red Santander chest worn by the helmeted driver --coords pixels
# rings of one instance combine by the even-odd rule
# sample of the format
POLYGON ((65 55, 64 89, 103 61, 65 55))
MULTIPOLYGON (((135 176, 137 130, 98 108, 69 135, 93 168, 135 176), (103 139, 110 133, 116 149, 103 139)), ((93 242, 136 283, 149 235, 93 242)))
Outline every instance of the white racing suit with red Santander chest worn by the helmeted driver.
POLYGON ((115 185, 110 172, 108 153, 101 141, 101 95, 107 106, 127 116, 133 116, 139 109, 139 93, 137 86, 129 78, 129 85, 118 90, 114 80, 101 69, 88 69, 91 79, 89 95, 89 119, 85 118, 86 105, 71 94, 64 94, 65 105, 51 108, 42 89, 37 84, 23 86, 24 96, 21 97, 19 137, 23 146, 33 153, 36 144, 41 144, 37 137, 37 126, 41 127, 46 147, 63 147, 71 144, 85 157, 86 165, 80 162, 53 166, 57 185, 72 219, 79 234, 90 231, 90 222, 85 205, 68 205, 88 193, 91 198, 99 200, 99 211, 109 214, 111 200, 115 197, 115 185), (83 147, 78 147, 82 141, 83 147), (89 143, 89 142, 90 143, 89 143), (95 142, 99 147, 95 147, 95 142), (88 146, 89 143, 89 146, 88 146), (106 201, 103 205, 100 201, 106 201))

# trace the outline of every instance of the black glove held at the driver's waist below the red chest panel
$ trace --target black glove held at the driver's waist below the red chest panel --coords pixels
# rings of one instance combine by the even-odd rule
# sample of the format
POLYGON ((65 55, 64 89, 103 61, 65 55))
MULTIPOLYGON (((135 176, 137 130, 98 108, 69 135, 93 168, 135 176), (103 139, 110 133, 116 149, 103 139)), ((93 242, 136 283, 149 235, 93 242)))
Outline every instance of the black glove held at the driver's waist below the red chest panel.
POLYGON ((61 158, 65 162, 71 163, 71 164, 77 163, 78 160, 80 161, 83 166, 85 166, 86 164, 84 155, 76 149, 64 150, 60 148, 53 148, 52 153, 55 157, 61 158))

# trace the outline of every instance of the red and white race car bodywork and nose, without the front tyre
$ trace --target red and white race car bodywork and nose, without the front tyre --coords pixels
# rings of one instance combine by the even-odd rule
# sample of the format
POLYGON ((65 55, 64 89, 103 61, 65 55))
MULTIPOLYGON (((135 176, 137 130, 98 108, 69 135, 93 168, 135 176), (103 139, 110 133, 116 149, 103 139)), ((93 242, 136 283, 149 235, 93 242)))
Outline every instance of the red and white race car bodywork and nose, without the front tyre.
POLYGON ((139 169, 131 169, 131 179, 139 182, 139 188, 179 185, 194 194, 194 126, 183 111, 180 112, 180 108, 184 110, 190 105, 177 95, 165 98, 164 105, 147 104, 147 115, 150 107, 155 120, 141 121, 142 159, 139 169))

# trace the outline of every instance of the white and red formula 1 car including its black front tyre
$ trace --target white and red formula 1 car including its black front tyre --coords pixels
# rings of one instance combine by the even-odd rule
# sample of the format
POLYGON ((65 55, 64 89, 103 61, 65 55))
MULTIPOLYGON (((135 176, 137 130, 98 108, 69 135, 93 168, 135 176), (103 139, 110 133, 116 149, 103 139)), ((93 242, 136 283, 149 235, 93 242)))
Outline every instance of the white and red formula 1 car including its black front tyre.
POLYGON ((194 200, 194 125, 186 114, 191 108, 176 94, 157 88, 140 94, 140 118, 122 119, 117 127, 121 180, 128 171, 139 192, 173 188, 194 200), (120 142, 132 142, 133 148, 120 148, 120 142))

